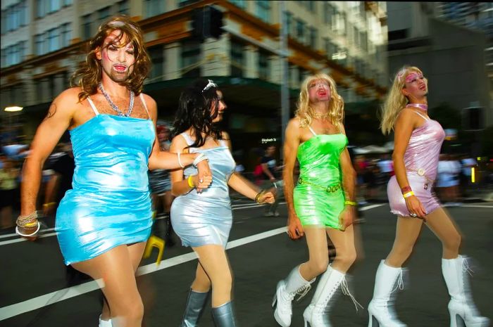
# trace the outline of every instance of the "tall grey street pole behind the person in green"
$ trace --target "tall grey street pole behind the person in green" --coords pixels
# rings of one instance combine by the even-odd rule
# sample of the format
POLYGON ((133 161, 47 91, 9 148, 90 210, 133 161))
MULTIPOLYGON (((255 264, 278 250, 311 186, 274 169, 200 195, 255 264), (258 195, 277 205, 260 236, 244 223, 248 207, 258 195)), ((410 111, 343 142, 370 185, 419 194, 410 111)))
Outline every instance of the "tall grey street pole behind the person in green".
POLYGON ((284 159, 284 141, 285 130, 287 122, 289 120, 289 75, 287 72, 287 15, 286 15, 286 1, 280 1, 280 60, 281 60, 281 141, 280 157, 284 159))

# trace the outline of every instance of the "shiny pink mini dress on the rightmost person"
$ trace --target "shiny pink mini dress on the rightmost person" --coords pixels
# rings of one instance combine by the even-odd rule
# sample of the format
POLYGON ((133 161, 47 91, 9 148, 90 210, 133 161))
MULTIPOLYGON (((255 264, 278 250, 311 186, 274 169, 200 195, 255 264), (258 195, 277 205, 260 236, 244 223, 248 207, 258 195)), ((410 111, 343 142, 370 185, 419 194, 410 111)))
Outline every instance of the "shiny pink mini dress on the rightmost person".
MULTIPOLYGON (((404 165, 409 186, 423 204, 426 214, 429 214, 440 207, 432 186, 437 177, 438 157, 445 132, 436 120, 430 120, 416 111, 414 113, 426 121, 425 124, 413 130, 406 153, 404 153, 404 165)), ((390 212, 403 217, 409 216, 406 201, 395 176, 389 179, 389 184, 387 184, 387 197, 390 212)))

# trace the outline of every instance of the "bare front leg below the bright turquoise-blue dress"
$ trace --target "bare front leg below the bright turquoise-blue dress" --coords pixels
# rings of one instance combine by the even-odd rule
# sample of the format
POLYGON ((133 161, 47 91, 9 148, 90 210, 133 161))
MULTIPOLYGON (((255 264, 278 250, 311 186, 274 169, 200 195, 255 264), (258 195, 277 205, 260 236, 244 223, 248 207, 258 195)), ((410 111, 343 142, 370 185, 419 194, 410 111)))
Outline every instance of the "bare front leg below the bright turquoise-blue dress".
MULTIPOLYGON (((143 248, 143 243, 140 244, 143 248)), ((144 314, 129 248, 132 247, 120 245, 93 259, 72 264, 94 279, 103 279, 102 290, 115 327, 140 327, 144 314)))

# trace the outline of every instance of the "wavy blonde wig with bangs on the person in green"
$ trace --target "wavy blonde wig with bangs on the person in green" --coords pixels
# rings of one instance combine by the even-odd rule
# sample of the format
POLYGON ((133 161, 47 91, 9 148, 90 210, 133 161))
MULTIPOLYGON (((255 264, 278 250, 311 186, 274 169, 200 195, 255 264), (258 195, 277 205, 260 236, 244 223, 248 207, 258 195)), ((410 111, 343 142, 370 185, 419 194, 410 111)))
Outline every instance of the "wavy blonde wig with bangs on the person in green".
POLYGON ((308 85, 311 82, 322 79, 327 82, 330 87, 330 102, 329 102, 329 118, 330 122, 334 124, 339 132, 342 131, 342 120, 344 120, 344 100, 339 94, 337 94, 337 86, 334 79, 327 74, 319 73, 306 77, 301 84, 301 91, 299 92, 299 101, 297 104, 297 110, 294 113, 296 117, 299 117, 300 127, 310 126, 313 120, 313 108, 310 106, 310 97, 308 96, 308 85))

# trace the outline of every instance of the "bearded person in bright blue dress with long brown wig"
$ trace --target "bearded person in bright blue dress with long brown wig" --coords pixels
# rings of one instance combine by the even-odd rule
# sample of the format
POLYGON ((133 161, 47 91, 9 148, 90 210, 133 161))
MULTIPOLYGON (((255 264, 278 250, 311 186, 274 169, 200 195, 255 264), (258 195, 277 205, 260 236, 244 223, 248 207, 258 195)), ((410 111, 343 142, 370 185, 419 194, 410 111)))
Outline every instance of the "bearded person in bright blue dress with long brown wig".
POLYGON ((140 327, 144 307, 135 271, 152 225, 148 169, 198 168, 201 190, 211 183, 204 155, 162 152, 156 102, 142 93, 149 56, 140 27, 125 15, 109 19, 89 42, 85 64, 39 125, 23 170, 20 236, 39 231, 36 199, 42 166, 66 129, 75 159, 73 189, 56 212, 65 264, 101 279, 99 326, 140 327))

